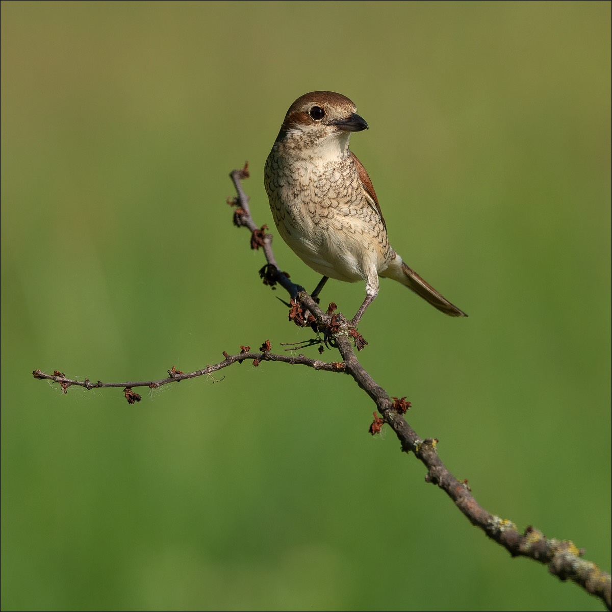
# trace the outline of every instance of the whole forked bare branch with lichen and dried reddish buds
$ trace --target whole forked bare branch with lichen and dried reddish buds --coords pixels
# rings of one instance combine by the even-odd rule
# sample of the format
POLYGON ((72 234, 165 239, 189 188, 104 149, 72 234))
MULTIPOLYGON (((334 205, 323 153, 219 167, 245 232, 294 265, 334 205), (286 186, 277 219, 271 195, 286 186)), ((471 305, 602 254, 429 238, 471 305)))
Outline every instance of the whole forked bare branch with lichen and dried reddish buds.
POLYGON ((222 370, 236 362, 241 364, 245 360, 251 360, 257 366, 263 361, 278 361, 290 365, 305 365, 315 370, 343 372, 351 376, 357 385, 363 389, 372 401, 382 417, 376 416, 370 425, 370 433, 375 435, 381 431, 384 424, 389 425, 400 440, 403 452, 412 452, 427 467, 425 481, 438 485, 452 499, 458 509, 468 520, 482 529, 492 540, 498 542, 512 556, 524 556, 548 565, 550 573, 561 580, 572 580, 579 584, 587 592, 600 597, 608 610, 612 610, 611 579, 610 573, 603 572, 597 565, 582 558, 584 551, 579 550, 569 540, 547 539, 541 531, 531 526, 521 534, 517 526, 510 520, 498 517, 483 509, 472 496, 467 480, 458 480, 446 468, 438 457, 436 446, 438 440, 435 438, 422 439, 417 435, 404 415, 410 408, 409 401, 405 397, 391 398, 383 387, 379 386, 360 364, 353 350, 363 349, 367 342, 351 327, 346 319, 335 313, 335 304, 330 304, 327 312, 323 312, 315 300, 304 291, 300 285, 289 280, 289 275, 282 272, 277 264, 272 251, 272 236, 267 234, 267 226, 258 226, 253 220, 248 205, 248 196, 242 188, 242 180, 248 178, 248 165, 245 164, 241 170, 234 170, 230 177, 236 187, 237 197, 228 201, 234 206, 234 225, 245 226, 250 230, 250 247, 262 248, 266 257, 266 265, 259 271, 259 275, 266 285, 273 289, 275 285, 281 285, 289 294, 288 304, 289 320, 299 326, 311 327, 316 333, 316 340, 307 341, 305 344, 321 344, 331 346, 339 351, 342 362, 327 363, 319 359, 310 359, 300 354, 297 357, 277 355, 271 352, 269 340, 263 343, 258 353, 250 352, 250 346, 242 346, 241 353, 228 355, 223 353, 225 359, 222 362, 185 374, 173 366, 168 370, 168 378, 151 381, 125 381, 122 383, 91 383, 89 379, 76 381, 67 378, 58 370, 53 375, 48 375, 40 370, 34 370, 34 378, 46 379, 59 383, 63 392, 72 386, 81 386, 85 389, 97 389, 102 387, 123 387, 124 395, 129 403, 140 401, 140 395, 133 392, 133 387, 150 387, 155 389, 164 384, 177 383, 185 379, 197 378, 198 376, 211 375, 215 371, 222 370), (351 343, 353 346, 351 346, 351 343))

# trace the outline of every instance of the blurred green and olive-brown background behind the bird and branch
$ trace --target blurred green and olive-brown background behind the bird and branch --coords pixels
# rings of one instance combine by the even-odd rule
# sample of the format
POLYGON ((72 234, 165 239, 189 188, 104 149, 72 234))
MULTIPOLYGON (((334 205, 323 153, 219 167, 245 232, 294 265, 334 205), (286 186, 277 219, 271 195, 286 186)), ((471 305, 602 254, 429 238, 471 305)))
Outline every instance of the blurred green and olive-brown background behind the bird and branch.
POLYGON ((610 570, 610 6, 2 2, 2 609, 600 610, 371 438, 346 376, 234 365, 128 406, 31 371, 162 378, 310 337, 228 173, 248 160, 272 225, 286 109, 341 92, 392 244, 470 315, 384 281, 362 363, 485 508, 610 570))

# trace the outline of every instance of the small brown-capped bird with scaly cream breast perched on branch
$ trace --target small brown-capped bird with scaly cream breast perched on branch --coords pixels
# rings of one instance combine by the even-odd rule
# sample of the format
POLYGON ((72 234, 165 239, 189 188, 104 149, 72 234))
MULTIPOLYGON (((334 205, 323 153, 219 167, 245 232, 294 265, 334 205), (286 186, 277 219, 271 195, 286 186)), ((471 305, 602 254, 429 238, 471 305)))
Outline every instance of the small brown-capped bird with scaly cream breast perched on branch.
POLYGON ((323 275, 313 297, 328 278, 365 281, 365 299, 350 326, 378 295, 379 277, 405 285, 446 315, 467 316, 389 244, 370 177, 349 149, 351 133, 367 129, 354 103, 332 91, 312 91, 289 106, 264 167, 278 233, 323 275))

